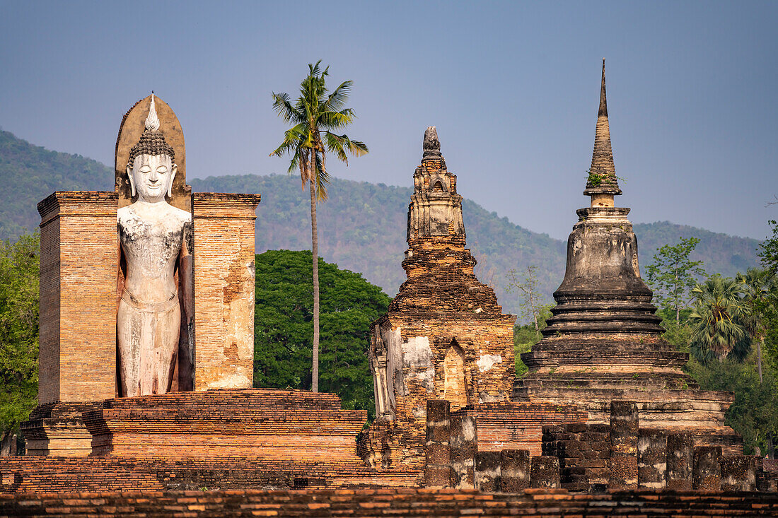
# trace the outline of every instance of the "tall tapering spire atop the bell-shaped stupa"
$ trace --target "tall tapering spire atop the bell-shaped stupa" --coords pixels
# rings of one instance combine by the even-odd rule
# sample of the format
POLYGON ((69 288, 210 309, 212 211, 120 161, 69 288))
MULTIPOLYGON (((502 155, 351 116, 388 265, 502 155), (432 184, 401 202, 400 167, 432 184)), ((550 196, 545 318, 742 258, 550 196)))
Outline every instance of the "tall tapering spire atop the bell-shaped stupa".
POLYGON ((602 59, 602 83, 600 86, 600 109, 598 110, 597 128, 594 131, 594 152, 591 156, 591 168, 587 178, 584 194, 601 200, 598 205, 608 205, 603 198, 611 198, 614 194, 622 194, 619 182, 616 179, 616 168, 613 163, 613 150, 611 148, 611 130, 608 127, 608 102, 605 99, 605 58, 602 59))

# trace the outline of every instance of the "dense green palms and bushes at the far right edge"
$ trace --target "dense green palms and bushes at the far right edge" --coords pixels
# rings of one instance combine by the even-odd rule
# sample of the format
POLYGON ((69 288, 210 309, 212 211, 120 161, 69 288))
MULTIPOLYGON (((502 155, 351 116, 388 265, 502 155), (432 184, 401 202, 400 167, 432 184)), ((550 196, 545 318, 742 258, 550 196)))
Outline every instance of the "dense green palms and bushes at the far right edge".
POLYGON ((769 275, 770 246, 770 240, 762 245, 766 271, 750 268, 735 278, 711 275, 695 285, 692 300, 678 312, 672 304, 664 304, 659 312, 664 338, 690 353, 686 372, 703 390, 734 393, 726 424, 743 436, 745 453, 771 452, 772 438, 778 435, 778 370, 769 346, 760 350, 761 338, 778 329, 778 297, 769 296, 776 290, 769 275))

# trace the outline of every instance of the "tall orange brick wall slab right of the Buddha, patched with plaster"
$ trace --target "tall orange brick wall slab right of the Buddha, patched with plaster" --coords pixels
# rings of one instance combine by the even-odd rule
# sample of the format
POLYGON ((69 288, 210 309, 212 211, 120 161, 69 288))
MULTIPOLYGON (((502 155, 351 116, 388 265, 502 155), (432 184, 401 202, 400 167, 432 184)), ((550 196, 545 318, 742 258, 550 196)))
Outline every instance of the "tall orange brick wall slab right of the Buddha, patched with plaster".
POLYGON ((254 376, 254 194, 196 193, 195 390, 254 376))

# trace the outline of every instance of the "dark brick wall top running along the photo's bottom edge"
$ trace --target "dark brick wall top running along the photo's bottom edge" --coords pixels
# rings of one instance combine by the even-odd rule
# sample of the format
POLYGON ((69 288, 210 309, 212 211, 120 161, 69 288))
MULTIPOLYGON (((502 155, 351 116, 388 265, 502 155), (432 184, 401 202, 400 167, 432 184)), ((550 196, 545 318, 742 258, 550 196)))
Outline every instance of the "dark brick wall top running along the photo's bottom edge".
POLYGON ((778 495, 563 489, 214 491, 0 495, 0 516, 776 516, 778 495))

